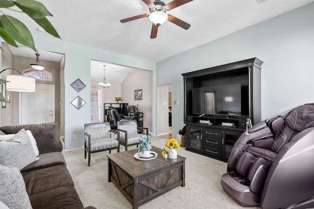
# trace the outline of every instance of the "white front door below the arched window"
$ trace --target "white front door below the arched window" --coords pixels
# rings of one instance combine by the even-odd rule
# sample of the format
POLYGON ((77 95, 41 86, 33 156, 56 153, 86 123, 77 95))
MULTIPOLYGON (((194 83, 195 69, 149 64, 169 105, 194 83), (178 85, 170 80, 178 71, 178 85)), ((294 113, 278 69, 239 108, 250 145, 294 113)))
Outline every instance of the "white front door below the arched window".
POLYGON ((54 85, 36 84, 35 92, 21 93, 21 125, 54 121, 54 85))

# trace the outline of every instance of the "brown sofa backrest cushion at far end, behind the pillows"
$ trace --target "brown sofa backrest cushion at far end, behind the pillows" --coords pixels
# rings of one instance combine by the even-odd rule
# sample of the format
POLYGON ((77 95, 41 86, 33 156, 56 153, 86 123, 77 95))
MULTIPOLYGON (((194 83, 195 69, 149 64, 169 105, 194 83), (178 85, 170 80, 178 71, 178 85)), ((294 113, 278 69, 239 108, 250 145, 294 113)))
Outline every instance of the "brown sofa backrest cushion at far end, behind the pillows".
POLYGON ((16 134, 22 128, 29 130, 33 134, 39 154, 62 151, 63 146, 60 139, 59 125, 56 122, 2 126, 0 130, 5 134, 16 134))

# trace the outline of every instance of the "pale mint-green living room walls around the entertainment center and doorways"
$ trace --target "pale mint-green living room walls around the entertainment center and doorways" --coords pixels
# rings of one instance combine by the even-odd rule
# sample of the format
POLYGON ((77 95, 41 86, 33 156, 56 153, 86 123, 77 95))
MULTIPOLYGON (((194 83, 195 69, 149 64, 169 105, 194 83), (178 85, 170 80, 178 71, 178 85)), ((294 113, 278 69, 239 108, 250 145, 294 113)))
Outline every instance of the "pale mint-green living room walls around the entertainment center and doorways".
POLYGON ((173 133, 177 134, 183 127, 181 73, 252 57, 258 57, 264 62, 262 119, 314 101, 314 3, 157 63, 62 41, 51 36, 33 36, 36 48, 65 54, 66 149, 83 146, 83 124, 90 120, 91 59, 153 71, 153 131, 157 128, 157 85, 172 84, 173 100, 181 101, 180 105, 172 107, 172 128, 173 133), (77 78, 87 86, 79 93, 70 86, 77 78), (70 104, 77 95, 87 102, 80 110, 70 104), (72 139, 74 134, 78 139, 72 139))

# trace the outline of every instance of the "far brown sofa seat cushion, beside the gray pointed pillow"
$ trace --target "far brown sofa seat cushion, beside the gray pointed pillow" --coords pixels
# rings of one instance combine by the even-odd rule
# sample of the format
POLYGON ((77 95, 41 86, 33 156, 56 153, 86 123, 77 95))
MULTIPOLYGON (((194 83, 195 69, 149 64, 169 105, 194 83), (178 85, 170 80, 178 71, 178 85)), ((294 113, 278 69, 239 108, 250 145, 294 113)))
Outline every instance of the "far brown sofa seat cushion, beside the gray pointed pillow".
POLYGON ((21 170, 21 173, 29 172, 32 170, 38 170, 46 167, 51 167, 54 165, 66 165, 64 157, 61 152, 49 152, 38 155, 39 160, 30 163, 21 170))

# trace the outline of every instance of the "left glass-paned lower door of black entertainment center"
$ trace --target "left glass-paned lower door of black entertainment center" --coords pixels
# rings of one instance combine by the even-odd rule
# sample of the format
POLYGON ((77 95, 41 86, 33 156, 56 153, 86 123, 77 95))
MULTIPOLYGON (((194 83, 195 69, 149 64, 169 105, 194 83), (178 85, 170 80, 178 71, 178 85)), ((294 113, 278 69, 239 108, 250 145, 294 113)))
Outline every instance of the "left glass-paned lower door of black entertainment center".
POLYGON ((203 152, 203 130, 201 127, 187 126, 186 129, 187 148, 203 152))

